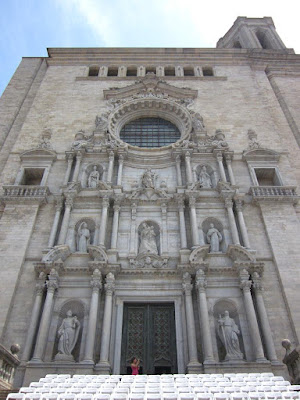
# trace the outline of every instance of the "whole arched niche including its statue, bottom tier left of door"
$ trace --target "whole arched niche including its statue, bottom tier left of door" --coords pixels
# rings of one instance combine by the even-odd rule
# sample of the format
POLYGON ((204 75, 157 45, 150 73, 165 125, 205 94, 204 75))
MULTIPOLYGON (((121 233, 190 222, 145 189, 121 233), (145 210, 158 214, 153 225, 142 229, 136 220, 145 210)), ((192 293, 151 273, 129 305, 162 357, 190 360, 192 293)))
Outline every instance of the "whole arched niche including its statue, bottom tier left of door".
POLYGON ((57 361, 79 362, 84 305, 80 301, 67 301, 60 309, 53 348, 57 361))

